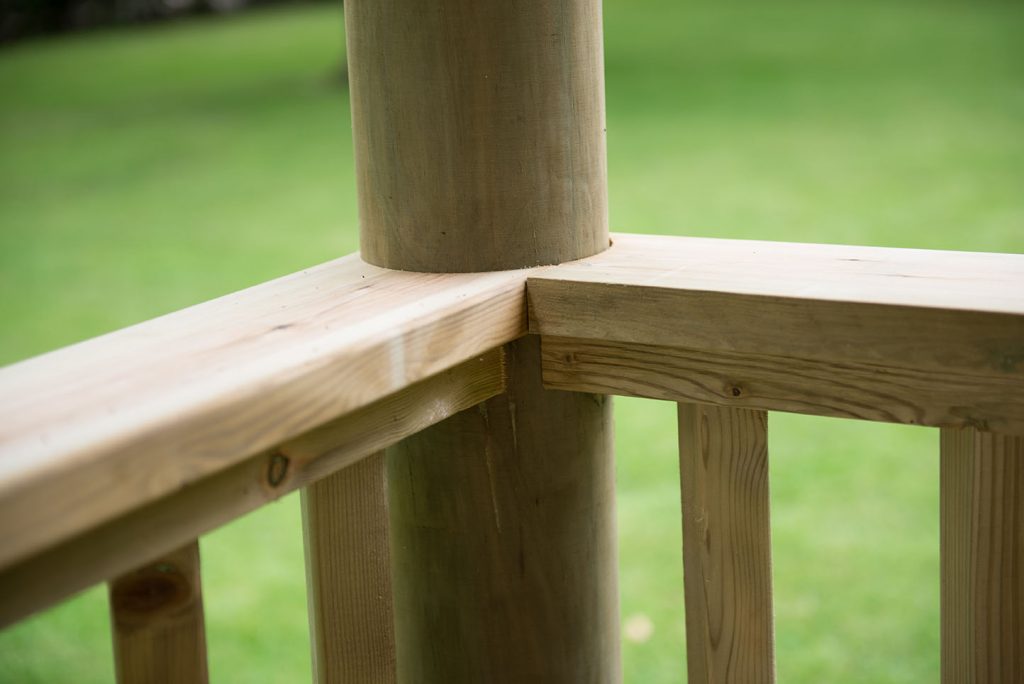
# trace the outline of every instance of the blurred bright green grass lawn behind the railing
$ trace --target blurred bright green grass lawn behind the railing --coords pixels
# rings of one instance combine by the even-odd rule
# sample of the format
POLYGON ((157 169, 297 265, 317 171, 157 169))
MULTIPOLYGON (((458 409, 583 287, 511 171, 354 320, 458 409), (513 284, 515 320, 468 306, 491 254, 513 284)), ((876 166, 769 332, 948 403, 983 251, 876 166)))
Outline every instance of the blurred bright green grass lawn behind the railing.
MULTIPOLYGON (((1024 5, 606 0, 614 229, 1024 252, 1024 5)), ((0 362, 354 251, 340 7, 0 51, 0 362)), ((618 399, 628 682, 679 682, 674 407, 618 399)), ((772 415, 784 682, 938 677, 936 431, 772 415)), ((295 497, 203 540, 217 682, 308 681, 295 497)), ((111 681, 102 589, 0 682, 111 681)))

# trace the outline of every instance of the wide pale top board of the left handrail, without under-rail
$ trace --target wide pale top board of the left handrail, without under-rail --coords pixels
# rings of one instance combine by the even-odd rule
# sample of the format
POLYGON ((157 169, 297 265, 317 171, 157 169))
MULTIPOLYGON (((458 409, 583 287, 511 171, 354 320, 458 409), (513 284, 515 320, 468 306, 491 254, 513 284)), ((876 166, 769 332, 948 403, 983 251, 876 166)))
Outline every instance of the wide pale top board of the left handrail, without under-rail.
POLYGON ((523 281, 349 256, 0 370, 0 567, 516 339, 523 281))

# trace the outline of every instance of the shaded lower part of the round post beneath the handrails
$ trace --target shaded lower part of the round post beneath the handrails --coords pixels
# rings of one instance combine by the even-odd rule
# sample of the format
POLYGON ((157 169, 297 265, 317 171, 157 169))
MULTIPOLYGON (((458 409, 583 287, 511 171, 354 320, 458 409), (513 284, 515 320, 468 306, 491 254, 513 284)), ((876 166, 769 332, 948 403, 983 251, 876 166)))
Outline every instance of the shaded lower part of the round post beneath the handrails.
POLYGON ((401 682, 620 678, 608 397, 509 389, 388 453, 401 682))

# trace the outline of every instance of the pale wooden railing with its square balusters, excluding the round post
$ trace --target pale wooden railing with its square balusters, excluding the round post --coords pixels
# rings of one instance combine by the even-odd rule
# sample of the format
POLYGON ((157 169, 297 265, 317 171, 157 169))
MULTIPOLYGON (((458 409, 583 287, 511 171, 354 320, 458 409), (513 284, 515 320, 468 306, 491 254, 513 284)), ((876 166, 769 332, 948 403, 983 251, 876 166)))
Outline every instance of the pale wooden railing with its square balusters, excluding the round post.
POLYGON ((942 429, 943 669, 1014 681, 1024 256, 613 242, 478 274, 347 257, 0 371, 3 623, 116 579, 126 681, 198 670, 194 540, 313 487, 319 657, 393 660, 379 454, 500 394, 528 325, 548 388, 680 402, 691 681, 771 678, 766 411, 942 429))

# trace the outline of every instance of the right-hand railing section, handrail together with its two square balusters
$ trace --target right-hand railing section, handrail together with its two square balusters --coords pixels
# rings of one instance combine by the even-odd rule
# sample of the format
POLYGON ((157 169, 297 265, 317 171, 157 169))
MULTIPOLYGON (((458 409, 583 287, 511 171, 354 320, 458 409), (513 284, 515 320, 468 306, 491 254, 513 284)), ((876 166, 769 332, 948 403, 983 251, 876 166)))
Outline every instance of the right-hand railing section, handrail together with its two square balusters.
POLYGON ((679 402, 690 681, 772 678, 766 411, 941 428, 943 681, 1024 677, 1024 256, 621 236, 527 293, 546 386, 679 402))

